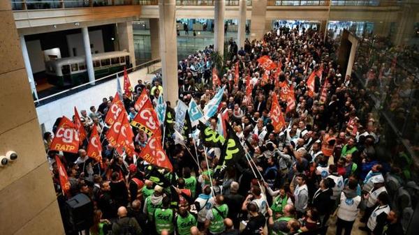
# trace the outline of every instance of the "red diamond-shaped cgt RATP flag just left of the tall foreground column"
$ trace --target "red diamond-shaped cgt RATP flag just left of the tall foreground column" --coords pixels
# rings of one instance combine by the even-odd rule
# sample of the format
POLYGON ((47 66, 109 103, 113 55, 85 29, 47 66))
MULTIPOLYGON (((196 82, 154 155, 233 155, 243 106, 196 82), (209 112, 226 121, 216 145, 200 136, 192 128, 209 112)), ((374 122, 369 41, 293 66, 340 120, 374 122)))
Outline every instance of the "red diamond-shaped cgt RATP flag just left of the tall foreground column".
POLYGON ((131 126, 144 130, 149 136, 153 135, 159 128, 159 119, 157 119, 157 114, 154 112, 152 102, 149 99, 145 100, 144 105, 135 115, 133 121, 131 121, 131 126))

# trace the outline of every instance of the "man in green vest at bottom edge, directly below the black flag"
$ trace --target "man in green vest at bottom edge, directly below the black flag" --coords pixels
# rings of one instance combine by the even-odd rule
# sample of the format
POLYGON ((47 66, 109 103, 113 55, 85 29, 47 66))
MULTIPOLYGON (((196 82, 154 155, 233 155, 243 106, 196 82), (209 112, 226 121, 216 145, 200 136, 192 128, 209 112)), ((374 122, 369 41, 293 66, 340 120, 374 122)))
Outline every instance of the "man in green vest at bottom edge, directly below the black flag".
POLYGON ((221 234, 226 229, 224 219, 227 218, 228 206, 224 204, 224 197, 216 195, 214 207, 207 212, 205 220, 205 229, 210 234, 221 234))

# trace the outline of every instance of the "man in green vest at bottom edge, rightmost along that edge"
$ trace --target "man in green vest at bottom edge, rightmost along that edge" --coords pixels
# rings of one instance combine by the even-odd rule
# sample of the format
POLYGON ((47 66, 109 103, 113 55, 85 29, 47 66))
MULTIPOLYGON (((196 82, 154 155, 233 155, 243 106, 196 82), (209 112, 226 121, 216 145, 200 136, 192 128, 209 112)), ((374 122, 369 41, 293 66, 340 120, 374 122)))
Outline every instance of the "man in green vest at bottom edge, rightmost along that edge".
POLYGON ((295 207, 287 204, 283 211, 284 215, 277 220, 274 220, 272 209, 267 209, 267 214, 269 215, 267 226, 270 227, 272 235, 288 234, 289 232, 289 227, 287 225, 288 221, 293 219, 295 216, 295 207))

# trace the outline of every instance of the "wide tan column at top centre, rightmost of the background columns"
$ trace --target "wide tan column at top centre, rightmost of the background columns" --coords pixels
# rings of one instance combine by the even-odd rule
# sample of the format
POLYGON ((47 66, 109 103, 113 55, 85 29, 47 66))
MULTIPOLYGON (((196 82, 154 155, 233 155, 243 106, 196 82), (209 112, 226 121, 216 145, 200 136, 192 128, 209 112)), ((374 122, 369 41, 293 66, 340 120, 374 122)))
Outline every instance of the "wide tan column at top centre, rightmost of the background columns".
POLYGON ((251 1, 250 40, 261 40, 265 33, 267 0, 251 1))

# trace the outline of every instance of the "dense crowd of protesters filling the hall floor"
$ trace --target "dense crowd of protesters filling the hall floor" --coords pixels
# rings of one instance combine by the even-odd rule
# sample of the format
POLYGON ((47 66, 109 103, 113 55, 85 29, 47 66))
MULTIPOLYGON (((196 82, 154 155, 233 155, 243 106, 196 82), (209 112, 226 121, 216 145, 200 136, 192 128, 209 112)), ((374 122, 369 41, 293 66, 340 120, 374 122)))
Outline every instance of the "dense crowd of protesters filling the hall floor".
MULTIPOLYGON (((358 229, 404 234, 419 192, 415 175, 402 163, 411 159, 385 153, 374 100, 360 89, 358 79, 342 74, 332 58, 332 41, 323 42, 323 35, 311 29, 282 27, 263 40, 246 40, 242 48, 231 40, 228 51, 219 79, 212 75, 212 47, 178 66, 184 104, 193 100, 204 109, 224 89, 207 122, 217 132, 222 125, 217 115, 223 114, 245 154, 222 170, 217 166, 226 150, 205 146, 203 133, 195 135, 198 126, 188 116, 181 133, 186 143, 175 142, 177 104, 167 103, 161 131, 173 172, 142 158, 150 138, 144 130, 133 128, 136 156, 119 155, 105 139, 109 126, 104 120, 113 97, 80 116, 88 136, 93 127, 101 136, 102 162, 87 156, 87 142, 77 154, 48 151, 53 135, 45 133, 67 234, 326 234, 332 224, 337 235, 358 229), (277 68, 265 73, 261 56, 269 56, 277 68), (312 73, 316 77, 309 87, 312 73), (281 96, 288 91, 279 84, 293 88, 295 101, 281 96), (285 121, 279 131, 272 125, 274 100, 279 100, 285 121), (55 156, 68 174, 65 194, 55 156), (74 225, 66 208, 66 201, 80 194, 93 202, 94 211, 84 218, 89 227, 74 225), (353 226, 358 219, 364 226, 353 226)), ((156 76, 152 84, 138 80, 133 98, 124 96, 129 119, 138 112, 135 100, 143 90, 157 105, 161 79, 156 76)))

